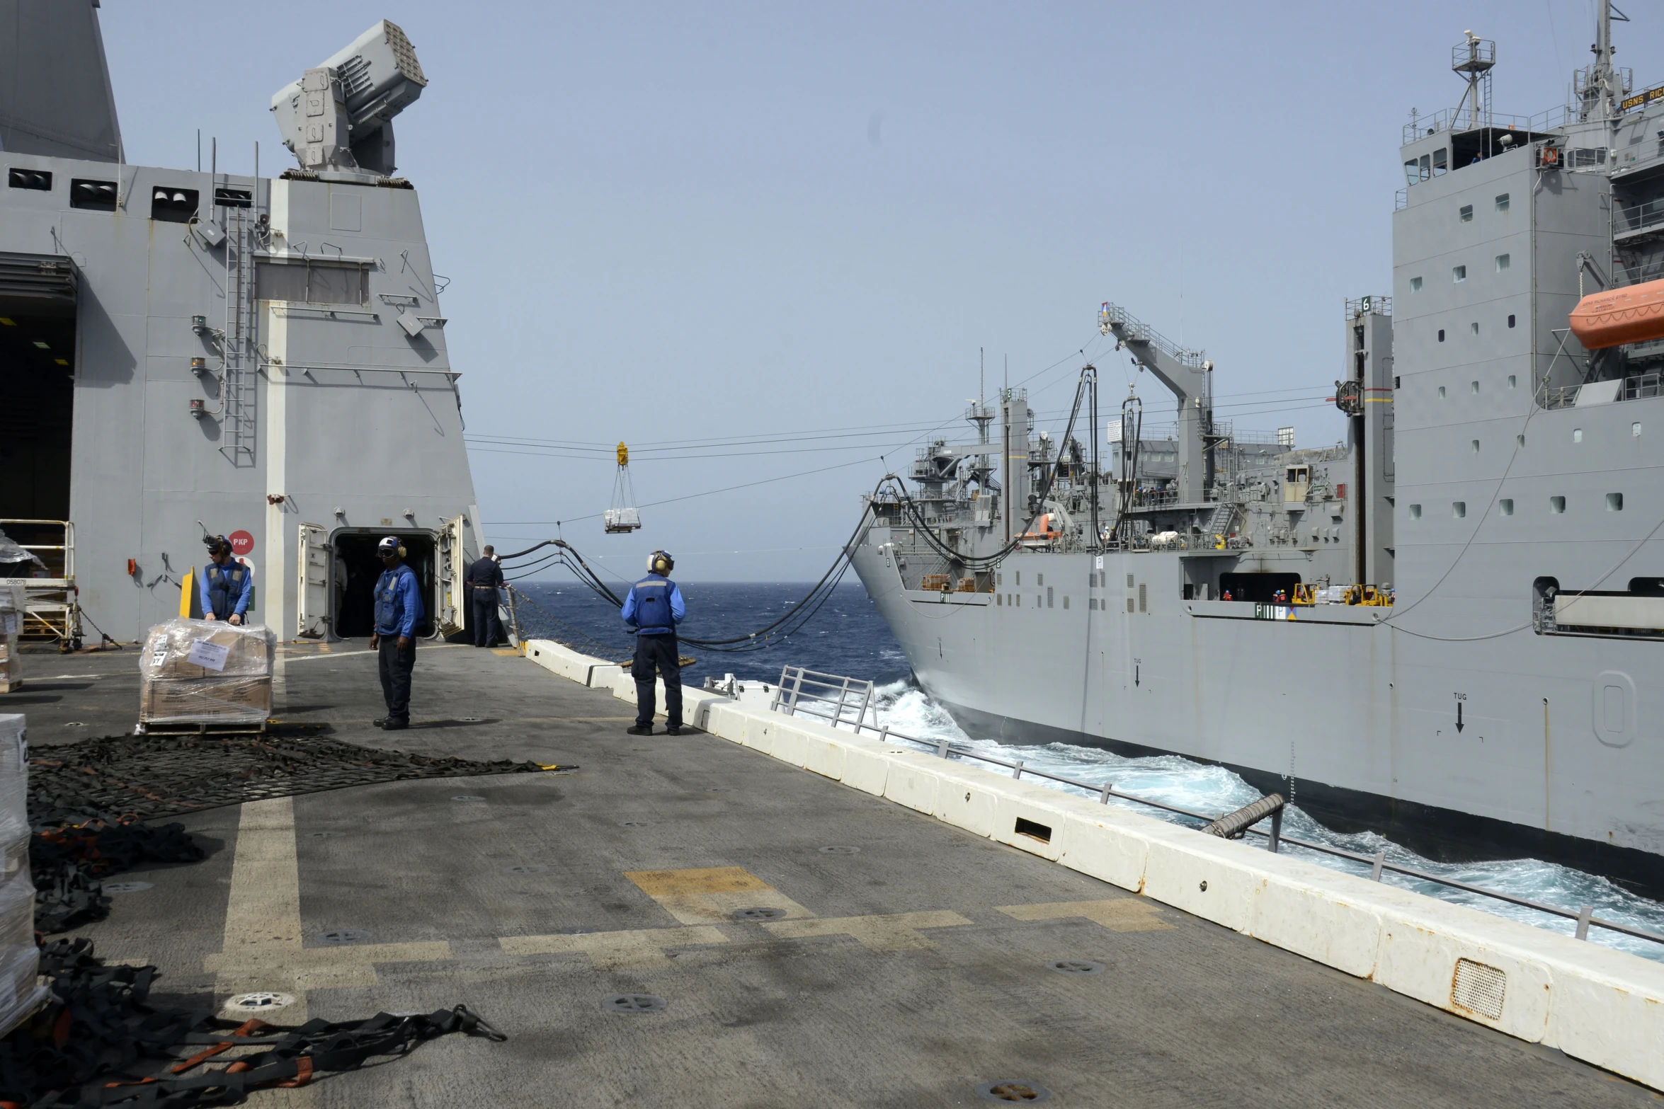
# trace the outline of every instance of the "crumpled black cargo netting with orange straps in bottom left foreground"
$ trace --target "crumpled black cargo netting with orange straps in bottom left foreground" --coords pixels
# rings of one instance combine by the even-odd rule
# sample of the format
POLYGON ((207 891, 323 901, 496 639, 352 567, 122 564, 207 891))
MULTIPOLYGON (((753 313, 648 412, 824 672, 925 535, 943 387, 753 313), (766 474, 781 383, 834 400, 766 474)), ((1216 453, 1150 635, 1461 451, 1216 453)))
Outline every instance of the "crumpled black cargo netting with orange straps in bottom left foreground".
POLYGON ((110 966, 90 939, 47 944, 40 973, 52 1001, 0 1039, 0 1109, 235 1106, 451 1033, 508 1039, 463 1004, 298 1026, 166 1009, 150 1004, 155 966, 110 966))

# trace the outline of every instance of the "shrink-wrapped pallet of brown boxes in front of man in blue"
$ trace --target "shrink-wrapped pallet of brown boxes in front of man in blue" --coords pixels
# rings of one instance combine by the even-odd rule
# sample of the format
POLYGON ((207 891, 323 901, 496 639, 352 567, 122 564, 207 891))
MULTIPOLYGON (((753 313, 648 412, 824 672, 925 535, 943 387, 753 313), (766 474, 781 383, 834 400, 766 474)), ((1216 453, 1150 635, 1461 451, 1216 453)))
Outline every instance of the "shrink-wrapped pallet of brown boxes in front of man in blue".
POLYGON ((271 715, 276 645, 260 624, 158 624, 138 658, 140 723, 261 723, 271 715))

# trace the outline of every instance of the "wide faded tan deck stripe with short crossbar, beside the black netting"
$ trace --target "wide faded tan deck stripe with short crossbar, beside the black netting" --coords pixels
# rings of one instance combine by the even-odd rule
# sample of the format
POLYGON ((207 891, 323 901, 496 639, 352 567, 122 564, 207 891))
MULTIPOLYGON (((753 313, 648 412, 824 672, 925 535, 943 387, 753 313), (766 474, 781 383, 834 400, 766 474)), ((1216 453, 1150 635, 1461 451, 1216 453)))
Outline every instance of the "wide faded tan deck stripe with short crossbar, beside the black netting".
POLYGON ((225 941, 203 968, 221 994, 275 989, 295 994, 281 1019, 306 1019, 306 989, 374 986, 376 963, 451 958, 451 944, 366 943, 306 948, 301 938, 301 876, 295 858, 295 803, 248 801, 236 831, 225 941))

